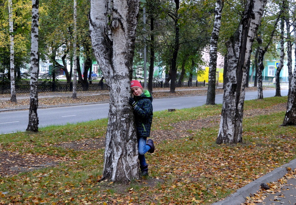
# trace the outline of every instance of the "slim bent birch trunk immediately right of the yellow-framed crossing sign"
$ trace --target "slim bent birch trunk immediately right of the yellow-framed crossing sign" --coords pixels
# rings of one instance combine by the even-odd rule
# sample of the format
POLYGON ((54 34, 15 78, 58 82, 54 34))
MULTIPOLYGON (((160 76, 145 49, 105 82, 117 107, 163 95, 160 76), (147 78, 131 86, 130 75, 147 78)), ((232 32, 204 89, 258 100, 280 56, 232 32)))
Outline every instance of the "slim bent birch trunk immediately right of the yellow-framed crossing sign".
POLYGON ((279 75, 281 73, 281 69, 284 67, 284 28, 285 28, 285 17, 281 17, 281 35, 280 35, 280 44, 281 44, 281 51, 280 51, 280 63, 279 66, 276 68, 276 94, 275 96, 281 96, 281 85, 279 82, 279 75))

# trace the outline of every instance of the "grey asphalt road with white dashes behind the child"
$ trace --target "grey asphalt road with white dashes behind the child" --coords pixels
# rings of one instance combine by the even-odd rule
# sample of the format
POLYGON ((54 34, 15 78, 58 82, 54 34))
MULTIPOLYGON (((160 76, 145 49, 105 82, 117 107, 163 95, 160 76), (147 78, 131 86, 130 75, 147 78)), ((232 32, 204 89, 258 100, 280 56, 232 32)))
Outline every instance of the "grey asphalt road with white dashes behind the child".
MULTIPOLYGON (((288 90, 281 90, 282 96, 287 94, 288 90)), ((257 91, 246 92, 245 100, 257 99, 257 95, 257 91)), ((274 95, 275 90, 263 91, 265 98, 274 95)), ((206 98, 207 96, 188 96, 154 99, 153 111, 197 107, 205 104, 206 98)), ((222 99, 223 94, 217 94, 215 102, 221 104, 222 99)), ((39 128, 105 118, 108 117, 108 110, 109 103, 38 109, 39 128)), ((25 131, 28 126, 28 115, 28 110, 0 112, 0 134, 25 131)))

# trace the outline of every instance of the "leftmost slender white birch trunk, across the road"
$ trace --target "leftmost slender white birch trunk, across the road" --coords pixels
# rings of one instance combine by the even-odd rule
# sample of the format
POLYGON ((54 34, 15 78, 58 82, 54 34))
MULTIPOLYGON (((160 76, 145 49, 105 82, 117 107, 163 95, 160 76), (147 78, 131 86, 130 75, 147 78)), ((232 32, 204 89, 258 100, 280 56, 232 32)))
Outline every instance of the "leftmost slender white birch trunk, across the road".
POLYGON ((10 101, 16 102, 15 94, 15 50, 13 35, 13 19, 12 19, 12 0, 8 0, 9 11, 9 39, 10 39, 10 101))

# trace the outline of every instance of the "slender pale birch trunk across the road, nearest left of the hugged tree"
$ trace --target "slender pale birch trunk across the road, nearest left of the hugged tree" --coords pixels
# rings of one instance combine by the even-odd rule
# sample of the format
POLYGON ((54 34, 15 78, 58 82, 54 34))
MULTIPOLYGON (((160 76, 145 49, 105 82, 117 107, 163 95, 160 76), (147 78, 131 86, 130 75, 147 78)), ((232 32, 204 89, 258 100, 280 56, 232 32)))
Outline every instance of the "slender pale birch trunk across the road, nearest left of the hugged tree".
MULTIPOLYGON (((74 43, 73 43, 73 58, 74 58, 74 65, 73 65, 73 91, 72 91, 72 99, 77 98, 76 90, 77 90, 77 50, 76 50, 76 43, 77 43, 77 5, 76 0, 74 0, 74 43)), ((79 62, 78 62, 79 63, 79 62)))

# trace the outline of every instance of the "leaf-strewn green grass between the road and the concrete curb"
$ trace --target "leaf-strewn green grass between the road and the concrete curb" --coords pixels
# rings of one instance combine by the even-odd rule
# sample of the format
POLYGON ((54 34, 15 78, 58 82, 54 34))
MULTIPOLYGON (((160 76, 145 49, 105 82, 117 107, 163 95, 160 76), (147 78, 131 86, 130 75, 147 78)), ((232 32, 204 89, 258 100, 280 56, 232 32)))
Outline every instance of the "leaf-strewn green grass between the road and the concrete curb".
MULTIPOLYGON (((245 109, 263 109, 287 97, 245 101, 245 109)), ((153 130, 167 124, 217 116, 221 104, 154 113, 153 130)), ((285 112, 245 118, 243 143, 217 145, 218 124, 188 130, 191 137, 164 140, 147 154, 149 176, 128 185, 99 181, 104 150, 71 150, 57 145, 104 137, 107 119, 51 126, 38 133, 1 135, 5 151, 69 157, 53 168, 0 178, 0 204, 211 204, 296 157, 296 127, 281 127, 285 112)), ((152 131, 153 132, 153 131, 152 131)))

